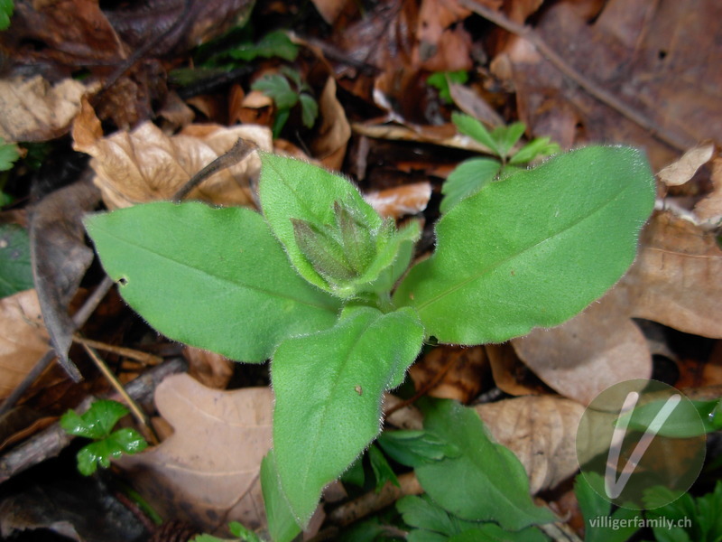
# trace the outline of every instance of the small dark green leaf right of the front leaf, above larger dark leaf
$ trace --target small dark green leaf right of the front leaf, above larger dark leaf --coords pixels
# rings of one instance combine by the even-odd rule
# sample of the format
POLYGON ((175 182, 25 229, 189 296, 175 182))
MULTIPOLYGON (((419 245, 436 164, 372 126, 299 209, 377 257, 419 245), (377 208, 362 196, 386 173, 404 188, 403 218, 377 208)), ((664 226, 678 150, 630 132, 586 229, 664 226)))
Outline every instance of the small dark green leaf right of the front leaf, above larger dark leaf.
POLYGON ((407 467, 458 456, 454 444, 429 431, 384 431, 376 442, 393 461, 407 467))

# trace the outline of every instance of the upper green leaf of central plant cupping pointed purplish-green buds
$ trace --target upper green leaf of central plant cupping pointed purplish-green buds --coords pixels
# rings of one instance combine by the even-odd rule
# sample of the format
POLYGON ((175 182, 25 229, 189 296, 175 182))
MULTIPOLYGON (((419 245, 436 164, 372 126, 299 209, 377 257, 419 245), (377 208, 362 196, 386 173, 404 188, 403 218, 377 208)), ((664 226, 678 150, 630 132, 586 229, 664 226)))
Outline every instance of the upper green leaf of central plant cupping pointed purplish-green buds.
POLYGON ((364 291, 418 238, 418 224, 395 231, 338 175, 275 154, 261 160, 264 216, 293 266, 319 288, 345 298, 364 291))

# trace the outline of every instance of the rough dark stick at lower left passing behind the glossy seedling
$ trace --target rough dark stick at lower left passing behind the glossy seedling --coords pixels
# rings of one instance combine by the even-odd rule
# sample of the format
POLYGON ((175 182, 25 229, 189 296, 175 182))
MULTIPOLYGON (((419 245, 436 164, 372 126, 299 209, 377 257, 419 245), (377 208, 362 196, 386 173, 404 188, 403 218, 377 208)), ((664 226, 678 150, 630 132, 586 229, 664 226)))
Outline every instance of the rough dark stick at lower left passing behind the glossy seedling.
MULTIPOLYGON (((146 370, 143 375, 125 386, 125 391, 135 401, 144 402, 153 396, 153 391, 163 378, 187 369, 188 363, 185 360, 173 358, 162 365, 146 370)), ((91 399, 88 397, 77 410, 84 412, 90 403, 91 399)), ((72 439, 73 437, 63 431, 57 423, 44 429, 27 442, 0 457, 0 483, 37 463, 58 455, 72 439)))

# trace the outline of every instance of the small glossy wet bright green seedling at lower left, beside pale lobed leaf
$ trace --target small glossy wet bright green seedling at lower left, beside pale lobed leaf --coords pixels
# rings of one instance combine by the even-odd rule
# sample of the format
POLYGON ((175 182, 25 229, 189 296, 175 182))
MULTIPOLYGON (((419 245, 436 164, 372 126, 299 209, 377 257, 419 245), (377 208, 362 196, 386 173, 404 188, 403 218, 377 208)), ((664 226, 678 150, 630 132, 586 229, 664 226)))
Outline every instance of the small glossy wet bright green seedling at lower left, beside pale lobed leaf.
POLYGON ((127 414, 125 406, 117 401, 103 399, 93 403, 82 416, 69 410, 60 417, 60 427, 66 433, 95 441, 82 447, 78 453, 78 470, 81 474, 89 476, 96 472, 98 464, 108 468, 111 459, 117 459, 124 453, 143 452, 148 446, 143 436, 132 427, 113 431, 118 420, 127 414))

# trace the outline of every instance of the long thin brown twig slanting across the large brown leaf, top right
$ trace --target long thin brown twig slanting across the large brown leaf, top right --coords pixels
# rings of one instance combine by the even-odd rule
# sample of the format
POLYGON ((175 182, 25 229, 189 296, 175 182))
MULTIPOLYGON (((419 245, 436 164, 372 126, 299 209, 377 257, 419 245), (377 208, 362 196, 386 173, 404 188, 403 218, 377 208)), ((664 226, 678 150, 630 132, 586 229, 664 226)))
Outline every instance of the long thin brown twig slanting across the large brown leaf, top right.
POLYGON ((513 21, 507 19, 504 14, 489 9, 485 5, 480 5, 475 0, 458 0, 458 3, 467 9, 470 9, 475 14, 484 17, 487 21, 491 21, 497 26, 504 28, 505 31, 516 34, 527 42, 532 43, 537 51, 541 52, 542 55, 550 61, 557 70, 560 70, 562 74, 574 81, 577 85, 579 85, 579 87, 585 89, 591 96, 597 98, 597 100, 606 106, 616 109, 618 113, 627 117, 638 126, 643 127, 645 130, 650 132, 653 137, 656 137, 663 143, 670 145, 672 148, 681 152, 686 151, 690 148, 690 146, 694 145, 694 142, 688 141, 686 137, 683 138, 671 133, 669 130, 666 130, 662 126, 658 125, 651 118, 637 112, 634 108, 625 104, 625 102, 617 98, 614 94, 601 88, 597 83, 588 79, 587 76, 569 65, 567 61, 564 61, 564 59, 562 59, 556 51, 553 51, 551 47, 544 42, 542 37, 538 33, 534 32, 531 27, 524 24, 514 23, 513 21))

